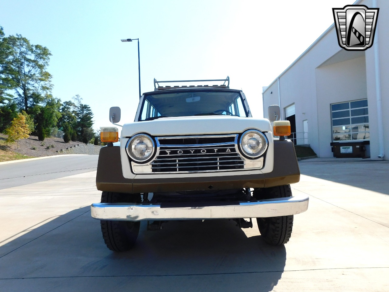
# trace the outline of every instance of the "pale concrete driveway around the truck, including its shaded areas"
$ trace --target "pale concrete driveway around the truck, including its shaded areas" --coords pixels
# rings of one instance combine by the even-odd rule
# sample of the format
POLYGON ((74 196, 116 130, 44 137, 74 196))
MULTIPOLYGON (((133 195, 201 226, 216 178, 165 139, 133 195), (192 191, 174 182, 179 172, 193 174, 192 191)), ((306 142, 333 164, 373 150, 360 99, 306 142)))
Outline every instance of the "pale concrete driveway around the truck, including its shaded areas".
POLYGON ((235 222, 141 224, 137 246, 104 245, 95 171, 0 190, 0 291, 389 291, 389 162, 300 162, 310 196, 292 238, 268 246, 235 222))

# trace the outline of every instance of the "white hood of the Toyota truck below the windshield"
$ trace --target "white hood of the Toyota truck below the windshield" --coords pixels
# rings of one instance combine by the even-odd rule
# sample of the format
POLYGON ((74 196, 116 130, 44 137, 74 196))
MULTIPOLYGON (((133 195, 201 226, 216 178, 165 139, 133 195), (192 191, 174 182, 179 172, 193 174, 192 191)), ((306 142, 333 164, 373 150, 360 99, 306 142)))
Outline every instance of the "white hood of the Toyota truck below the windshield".
POLYGON ((138 133, 159 135, 233 134, 257 129, 271 132, 269 120, 241 118, 237 116, 186 116, 158 118, 152 121, 138 121, 123 125, 121 137, 138 133))

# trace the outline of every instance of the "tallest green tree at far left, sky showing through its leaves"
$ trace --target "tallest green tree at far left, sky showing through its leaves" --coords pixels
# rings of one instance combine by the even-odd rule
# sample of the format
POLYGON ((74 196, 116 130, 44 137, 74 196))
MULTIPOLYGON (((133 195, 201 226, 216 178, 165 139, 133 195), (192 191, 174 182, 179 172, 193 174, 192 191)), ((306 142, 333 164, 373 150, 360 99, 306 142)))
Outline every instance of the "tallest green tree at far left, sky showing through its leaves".
POLYGON ((2 42, 11 50, 2 74, 14 84, 19 108, 30 114, 30 108, 51 92, 51 74, 46 71, 51 53, 47 47, 30 44, 19 34, 4 37, 2 42))

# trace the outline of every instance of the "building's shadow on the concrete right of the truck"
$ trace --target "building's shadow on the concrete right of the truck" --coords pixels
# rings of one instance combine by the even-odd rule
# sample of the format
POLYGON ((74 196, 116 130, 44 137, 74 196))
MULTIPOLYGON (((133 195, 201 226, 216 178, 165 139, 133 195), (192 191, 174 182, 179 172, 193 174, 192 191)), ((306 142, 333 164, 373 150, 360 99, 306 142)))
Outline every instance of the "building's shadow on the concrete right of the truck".
POLYGON ((389 161, 314 158, 299 161, 301 174, 389 195, 389 161))

